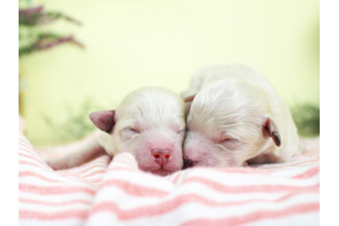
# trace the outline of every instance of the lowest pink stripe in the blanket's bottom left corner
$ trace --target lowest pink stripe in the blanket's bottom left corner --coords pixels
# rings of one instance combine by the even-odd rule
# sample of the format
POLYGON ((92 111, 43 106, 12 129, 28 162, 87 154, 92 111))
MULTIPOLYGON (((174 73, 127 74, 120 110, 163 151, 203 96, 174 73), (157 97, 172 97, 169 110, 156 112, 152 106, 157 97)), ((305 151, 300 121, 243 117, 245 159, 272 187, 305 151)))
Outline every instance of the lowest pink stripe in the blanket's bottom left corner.
POLYGON ((65 218, 85 219, 88 217, 88 211, 75 210, 65 212, 44 213, 30 210, 19 210, 20 219, 39 219, 39 220, 59 220, 65 218))

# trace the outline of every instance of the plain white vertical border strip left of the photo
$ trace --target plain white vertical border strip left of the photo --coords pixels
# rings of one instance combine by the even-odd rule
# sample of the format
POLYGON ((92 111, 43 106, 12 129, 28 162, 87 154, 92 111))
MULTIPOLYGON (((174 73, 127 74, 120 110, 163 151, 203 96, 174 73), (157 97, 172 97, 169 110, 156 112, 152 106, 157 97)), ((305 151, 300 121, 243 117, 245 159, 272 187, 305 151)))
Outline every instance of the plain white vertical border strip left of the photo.
POLYGON ((18 5, 18 1, 6 1, 0 14, 1 225, 19 224, 18 5))

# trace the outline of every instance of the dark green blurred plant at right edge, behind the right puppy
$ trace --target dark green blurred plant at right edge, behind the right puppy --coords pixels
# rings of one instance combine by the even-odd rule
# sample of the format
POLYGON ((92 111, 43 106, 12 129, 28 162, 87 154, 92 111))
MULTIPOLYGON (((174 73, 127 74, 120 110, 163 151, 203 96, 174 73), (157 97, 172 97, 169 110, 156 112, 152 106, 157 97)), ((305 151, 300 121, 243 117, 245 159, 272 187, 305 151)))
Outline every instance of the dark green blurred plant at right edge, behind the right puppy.
POLYGON ((301 136, 319 136, 320 107, 312 104, 295 105, 291 113, 301 136))

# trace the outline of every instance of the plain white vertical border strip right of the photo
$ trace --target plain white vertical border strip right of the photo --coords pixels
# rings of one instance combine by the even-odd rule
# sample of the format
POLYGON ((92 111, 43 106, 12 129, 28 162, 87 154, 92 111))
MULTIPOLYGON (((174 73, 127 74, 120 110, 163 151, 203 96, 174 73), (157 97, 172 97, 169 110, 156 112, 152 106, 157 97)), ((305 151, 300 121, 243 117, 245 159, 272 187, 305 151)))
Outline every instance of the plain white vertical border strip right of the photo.
POLYGON ((320 223, 338 225, 339 1, 320 1, 320 223))

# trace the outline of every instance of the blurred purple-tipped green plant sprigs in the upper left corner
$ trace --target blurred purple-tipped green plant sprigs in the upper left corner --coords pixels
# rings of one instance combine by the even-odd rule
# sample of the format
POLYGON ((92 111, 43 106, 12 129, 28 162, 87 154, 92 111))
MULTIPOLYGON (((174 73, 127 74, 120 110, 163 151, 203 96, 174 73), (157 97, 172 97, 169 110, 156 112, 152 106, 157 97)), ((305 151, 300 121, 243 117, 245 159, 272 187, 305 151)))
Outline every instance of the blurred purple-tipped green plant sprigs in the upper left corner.
POLYGON ((37 29, 40 25, 46 25, 58 19, 81 25, 79 21, 61 12, 45 12, 43 6, 19 9, 19 57, 35 51, 47 50, 62 43, 72 43, 84 48, 84 45, 72 35, 65 36, 37 29))

